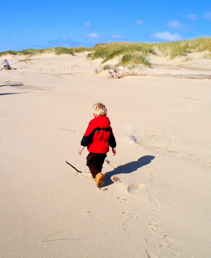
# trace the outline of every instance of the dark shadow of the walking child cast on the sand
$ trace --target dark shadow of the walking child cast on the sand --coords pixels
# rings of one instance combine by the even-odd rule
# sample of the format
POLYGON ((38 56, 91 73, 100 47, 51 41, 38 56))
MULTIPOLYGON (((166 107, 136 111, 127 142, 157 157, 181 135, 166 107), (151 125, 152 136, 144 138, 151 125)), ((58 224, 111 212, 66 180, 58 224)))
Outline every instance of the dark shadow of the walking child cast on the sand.
POLYGON ((136 171, 138 168, 148 165, 151 162, 151 160, 154 158, 155 158, 154 156, 146 155, 146 156, 139 158, 136 161, 131 161, 125 165, 118 166, 114 170, 109 171, 108 173, 105 174, 106 177, 105 177, 103 186, 109 186, 110 184, 114 183, 111 180, 111 176, 118 175, 118 174, 127 174, 127 173, 131 173, 133 171, 136 171))

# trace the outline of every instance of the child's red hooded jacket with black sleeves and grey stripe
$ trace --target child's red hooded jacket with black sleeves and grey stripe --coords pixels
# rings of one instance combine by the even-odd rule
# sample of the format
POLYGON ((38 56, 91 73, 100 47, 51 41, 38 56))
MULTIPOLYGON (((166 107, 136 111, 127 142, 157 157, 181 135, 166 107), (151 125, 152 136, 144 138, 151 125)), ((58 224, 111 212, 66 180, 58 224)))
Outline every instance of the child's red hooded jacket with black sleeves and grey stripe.
POLYGON ((81 146, 87 146, 88 151, 94 153, 107 153, 109 152, 109 146, 116 148, 116 141, 110 124, 106 116, 92 119, 81 140, 81 146))

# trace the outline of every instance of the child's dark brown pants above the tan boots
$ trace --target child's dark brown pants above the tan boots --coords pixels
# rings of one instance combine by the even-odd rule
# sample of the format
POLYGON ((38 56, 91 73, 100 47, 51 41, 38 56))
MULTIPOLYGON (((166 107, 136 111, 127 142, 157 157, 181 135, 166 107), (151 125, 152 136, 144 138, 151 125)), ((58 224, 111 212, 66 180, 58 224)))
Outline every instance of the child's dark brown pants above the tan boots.
POLYGON ((89 170, 94 178, 102 171, 103 163, 106 157, 106 153, 101 154, 93 152, 89 152, 88 156, 86 157, 86 165, 89 167, 89 170))

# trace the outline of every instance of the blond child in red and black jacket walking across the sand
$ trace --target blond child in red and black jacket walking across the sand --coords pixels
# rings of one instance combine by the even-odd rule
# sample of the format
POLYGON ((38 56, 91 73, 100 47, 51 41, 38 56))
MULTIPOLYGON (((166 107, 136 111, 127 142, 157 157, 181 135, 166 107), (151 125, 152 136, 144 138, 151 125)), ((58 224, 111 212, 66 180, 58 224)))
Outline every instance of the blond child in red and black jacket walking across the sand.
POLYGON ((101 173, 103 163, 109 152, 109 146, 116 155, 116 140, 107 117, 107 108, 103 103, 96 103, 92 107, 94 119, 89 122, 86 132, 81 140, 78 154, 81 155, 84 147, 89 151, 86 165, 92 173, 91 178, 96 181, 96 186, 101 187, 105 175, 101 173))

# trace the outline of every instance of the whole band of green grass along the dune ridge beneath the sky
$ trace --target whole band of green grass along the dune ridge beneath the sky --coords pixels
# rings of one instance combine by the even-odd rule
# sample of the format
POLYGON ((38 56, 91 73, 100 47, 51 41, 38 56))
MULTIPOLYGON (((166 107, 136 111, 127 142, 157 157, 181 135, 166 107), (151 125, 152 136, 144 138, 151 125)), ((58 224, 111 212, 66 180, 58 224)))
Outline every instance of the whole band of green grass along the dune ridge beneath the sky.
MULTIPOLYGON (((186 57, 189 53, 204 52, 208 53, 203 56, 205 59, 211 58, 211 37, 198 37, 176 42, 162 43, 130 43, 130 42, 112 42, 101 43, 94 47, 50 47, 46 49, 26 49, 22 51, 5 51, 0 52, 0 57, 3 55, 27 55, 33 57, 44 53, 54 53, 55 55, 76 55, 77 53, 88 52, 87 60, 92 61, 101 59, 101 70, 113 69, 116 66, 124 66, 129 69, 152 67, 150 55, 160 55, 168 59, 176 57, 186 57), (104 63, 118 58, 115 65, 104 63)), ((191 60, 190 58, 184 61, 191 60)), ((97 69, 98 70, 98 69, 97 69)))

